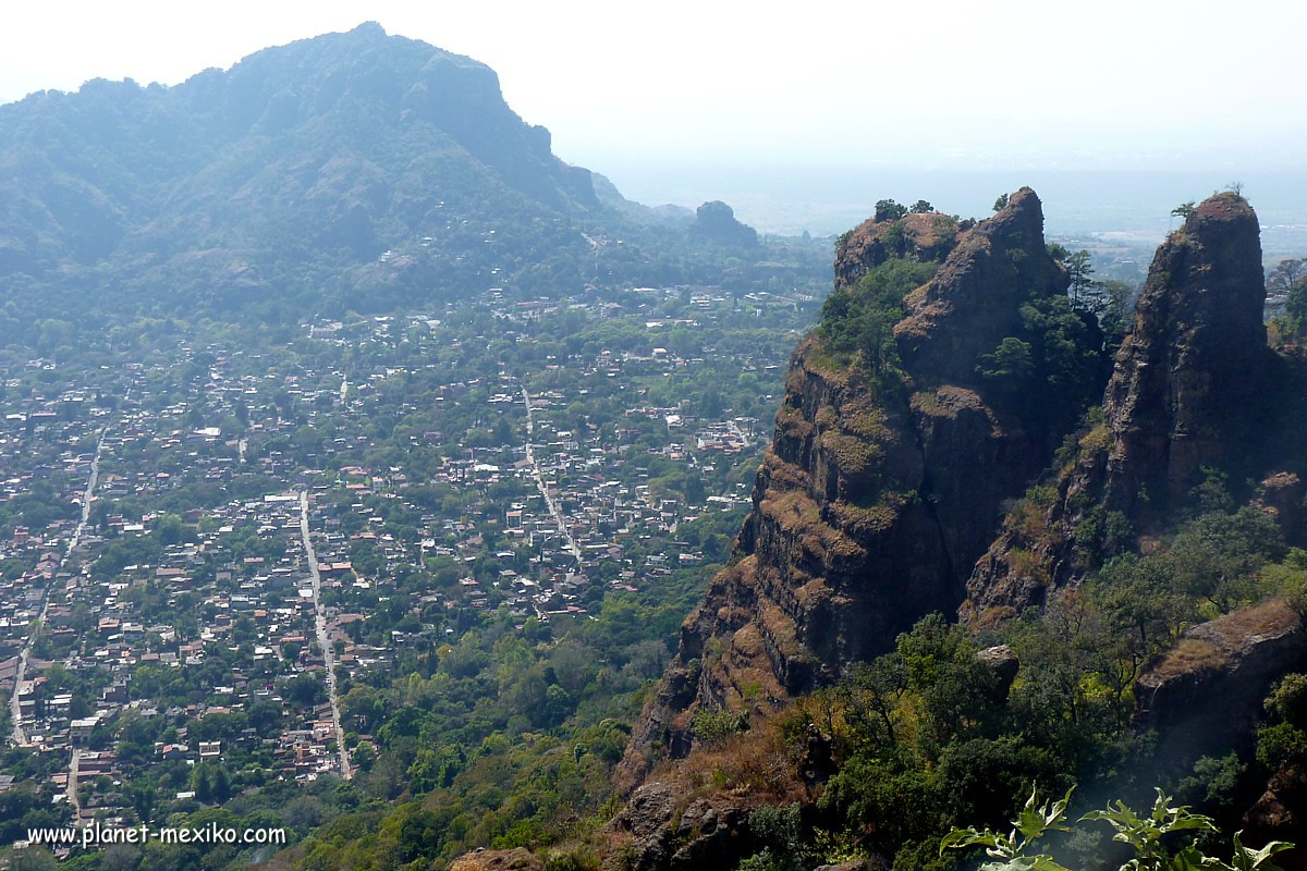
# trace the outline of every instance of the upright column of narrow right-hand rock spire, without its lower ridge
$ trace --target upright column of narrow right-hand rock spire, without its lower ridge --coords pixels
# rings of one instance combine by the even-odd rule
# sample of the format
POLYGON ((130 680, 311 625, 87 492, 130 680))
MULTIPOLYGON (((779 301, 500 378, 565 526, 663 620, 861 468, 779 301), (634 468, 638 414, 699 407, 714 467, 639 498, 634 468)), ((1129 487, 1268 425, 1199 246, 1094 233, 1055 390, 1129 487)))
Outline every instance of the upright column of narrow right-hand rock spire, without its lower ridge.
POLYGON ((1257 215, 1233 193, 1204 201, 1153 259, 1103 398, 1110 507, 1131 512, 1141 487, 1175 501, 1247 444, 1240 410, 1269 363, 1265 302, 1257 215))

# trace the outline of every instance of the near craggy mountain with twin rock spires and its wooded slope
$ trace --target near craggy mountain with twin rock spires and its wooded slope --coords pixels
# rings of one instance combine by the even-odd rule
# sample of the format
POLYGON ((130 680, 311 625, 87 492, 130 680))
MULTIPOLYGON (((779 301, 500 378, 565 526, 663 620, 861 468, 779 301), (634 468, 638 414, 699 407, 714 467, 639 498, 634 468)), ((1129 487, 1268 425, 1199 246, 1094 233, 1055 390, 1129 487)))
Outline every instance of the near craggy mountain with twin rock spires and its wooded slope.
POLYGON ((1300 837, 1307 377, 1268 346, 1256 214, 1191 209, 1116 347, 1035 193, 1005 200, 842 238, 753 511, 617 769, 634 867, 772 867, 831 831, 848 867, 945 867, 949 825, 1004 825, 1031 784, 1300 837))

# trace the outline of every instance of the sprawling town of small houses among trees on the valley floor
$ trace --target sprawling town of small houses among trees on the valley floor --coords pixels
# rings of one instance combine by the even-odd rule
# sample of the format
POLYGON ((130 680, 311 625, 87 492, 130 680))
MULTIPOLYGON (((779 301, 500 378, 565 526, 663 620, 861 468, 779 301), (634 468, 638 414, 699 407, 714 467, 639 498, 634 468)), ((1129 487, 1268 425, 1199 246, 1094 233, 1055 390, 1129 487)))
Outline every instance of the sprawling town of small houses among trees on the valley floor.
POLYGON ((348 781, 378 755, 350 688, 406 652, 702 576, 816 304, 490 290, 285 347, 12 367, 0 789, 131 825, 348 781))

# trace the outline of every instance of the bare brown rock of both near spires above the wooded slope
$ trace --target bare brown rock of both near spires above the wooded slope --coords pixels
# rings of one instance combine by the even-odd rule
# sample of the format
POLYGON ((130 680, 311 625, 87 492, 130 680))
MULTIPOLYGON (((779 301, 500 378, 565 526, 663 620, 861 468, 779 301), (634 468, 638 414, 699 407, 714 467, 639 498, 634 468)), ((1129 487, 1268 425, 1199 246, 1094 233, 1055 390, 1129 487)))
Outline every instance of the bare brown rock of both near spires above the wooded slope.
MULTIPOLYGON (((912 217, 897 256, 938 244, 914 244, 940 225, 912 217)), ((868 222, 844 238, 836 293, 886 260, 886 231, 868 222)), ((1102 422, 1082 424, 1060 453, 1073 447, 1072 458, 1048 471, 1048 444, 1070 434, 1031 432, 976 360, 1019 329, 1031 299, 1065 287, 1038 197, 1022 189, 958 234, 935 278, 906 296, 894 325, 901 396, 831 364, 819 336, 800 346, 736 558, 686 619, 623 782, 686 752, 698 710, 766 713, 931 611, 979 627, 1042 603, 1098 565, 1108 537, 1146 543, 1206 470, 1269 474, 1261 499, 1300 516, 1300 486, 1285 483, 1295 470, 1259 447, 1269 400, 1255 397, 1280 396, 1283 372, 1266 346, 1257 221, 1242 197, 1204 201, 1159 248, 1100 388, 1102 422), (1050 475, 1048 504, 1017 499, 1050 475)), ((1295 451, 1278 447, 1281 460, 1295 451)))

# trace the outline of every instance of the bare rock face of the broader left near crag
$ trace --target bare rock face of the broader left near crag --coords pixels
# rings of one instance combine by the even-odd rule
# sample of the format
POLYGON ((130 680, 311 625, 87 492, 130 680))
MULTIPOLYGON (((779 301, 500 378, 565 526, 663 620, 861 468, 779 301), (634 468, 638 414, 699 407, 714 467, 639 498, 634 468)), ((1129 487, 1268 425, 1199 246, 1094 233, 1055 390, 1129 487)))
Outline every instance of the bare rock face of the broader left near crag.
MULTIPOLYGON (((835 293, 876 265, 881 249, 859 239, 884 231, 846 239, 835 293)), ((918 239, 901 256, 936 244, 918 239)), ((1018 191, 955 242, 904 299, 899 380, 830 363, 817 338, 793 355, 735 560, 682 627, 623 760, 626 785, 650 759, 689 748, 697 709, 767 709, 885 652, 923 615, 955 610, 1004 500, 1047 462, 1060 434, 1023 427, 993 401, 1010 385, 976 373, 1021 330, 1022 306, 1065 293, 1039 198, 1018 191)))

